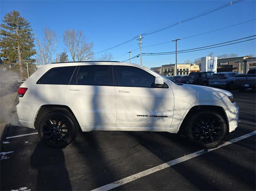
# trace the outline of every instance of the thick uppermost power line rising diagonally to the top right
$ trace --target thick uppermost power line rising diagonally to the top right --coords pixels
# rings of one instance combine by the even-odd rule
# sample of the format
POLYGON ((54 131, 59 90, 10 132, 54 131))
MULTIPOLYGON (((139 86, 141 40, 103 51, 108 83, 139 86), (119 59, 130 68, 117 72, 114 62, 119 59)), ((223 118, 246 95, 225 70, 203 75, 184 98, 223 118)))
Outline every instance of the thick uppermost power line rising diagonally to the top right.
MULTIPOLYGON (((218 10, 221 10, 221 9, 223 9, 223 8, 226 8, 226 7, 228 7, 228 6, 231 6, 232 4, 240 3, 240 2, 242 2, 242 1, 244 1, 244 0, 236 0, 236 1, 234 1, 234 2, 231 1, 231 2, 228 3, 228 4, 224 4, 223 6, 219 6, 219 7, 213 8, 213 9, 211 9, 210 11, 202 12, 202 13, 196 15, 196 16, 192 16, 191 18, 187 18, 187 19, 185 19, 185 20, 180 20, 180 21, 178 21, 178 22, 176 22, 176 23, 174 23, 174 24, 172 24, 172 25, 165 26, 164 28, 158 28, 158 29, 155 29, 155 30, 151 30, 151 31, 153 31, 153 32, 149 31, 149 32, 146 32, 146 33, 142 33, 141 35, 142 35, 142 36, 146 36, 146 35, 150 35, 150 34, 153 34, 153 33, 160 32, 160 31, 162 31, 162 30, 166 30, 166 29, 171 28, 171 27, 173 27, 173 26, 176 26, 176 25, 178 25, 178 24, 181 24, 181 23, 184 23, 184 22, 188 22, 188 21, 190 21, 190 20, 194 20, 194 19, 196 19, 196 18, 199 18, 199 17, 205 16, 205 15, 211 14, 211 13, 213 13, 213 12, 216 12, 216 11, 218 11, 218 10)), ((94 54, 102 53, 102 52, 108 51, 108 50, 110 50, 110 49, 114 49, 114 48, 116 48, 116 47, 119 47, 120 45, 126 44, 126 43, 128 43, 128 42, 130 42, 130 41, 136 39, 136 37, 138 37, 138 35, 136 35, 135 37, 133 37, 133 38, 131 38, 131 39, 129 39, 129 40, 123 42, 123 43, 119 43, 118 45, 115 45, 115 46, 110 47, 110 48, 107 48, 107 49, 105 49, 105 50, 96 52, 96 53, 94 53, 94 54)))

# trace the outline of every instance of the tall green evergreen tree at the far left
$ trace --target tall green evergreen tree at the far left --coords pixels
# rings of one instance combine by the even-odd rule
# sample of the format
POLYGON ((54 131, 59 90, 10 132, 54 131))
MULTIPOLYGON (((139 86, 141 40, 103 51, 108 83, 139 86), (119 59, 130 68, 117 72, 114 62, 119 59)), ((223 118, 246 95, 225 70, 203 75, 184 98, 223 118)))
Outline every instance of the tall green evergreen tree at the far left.
POLYGON ((0 25, 0 57, 5 69, 17 70, 20 78, 25 77, 22 63, 31 62, 34 50, 34 37, 30 23, 18 11, 7 13, 0 25), (18 63, 17 65, 13 65, 18 63))

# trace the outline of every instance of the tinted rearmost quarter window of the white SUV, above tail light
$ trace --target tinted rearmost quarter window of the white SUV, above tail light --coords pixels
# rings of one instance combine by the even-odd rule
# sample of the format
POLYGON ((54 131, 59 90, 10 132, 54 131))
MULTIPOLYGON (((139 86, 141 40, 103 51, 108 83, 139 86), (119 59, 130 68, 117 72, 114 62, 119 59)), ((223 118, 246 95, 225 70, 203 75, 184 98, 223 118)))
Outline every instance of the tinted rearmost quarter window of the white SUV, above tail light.
POLYGON ((36 83, 68 85, 76 66, 56 67, 48 70, 36 83))

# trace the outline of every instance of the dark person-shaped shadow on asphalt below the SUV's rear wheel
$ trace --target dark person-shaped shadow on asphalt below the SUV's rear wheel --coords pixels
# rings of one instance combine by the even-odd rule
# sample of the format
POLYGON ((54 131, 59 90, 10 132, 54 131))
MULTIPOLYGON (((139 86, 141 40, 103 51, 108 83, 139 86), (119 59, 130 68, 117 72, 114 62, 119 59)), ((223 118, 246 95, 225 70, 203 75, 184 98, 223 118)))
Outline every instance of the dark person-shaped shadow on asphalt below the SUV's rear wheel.
POLYGON ((61 149, 50 148, 40 141, 30 163, 32 168, 38 170, 35 190, 72 190, 61 149))

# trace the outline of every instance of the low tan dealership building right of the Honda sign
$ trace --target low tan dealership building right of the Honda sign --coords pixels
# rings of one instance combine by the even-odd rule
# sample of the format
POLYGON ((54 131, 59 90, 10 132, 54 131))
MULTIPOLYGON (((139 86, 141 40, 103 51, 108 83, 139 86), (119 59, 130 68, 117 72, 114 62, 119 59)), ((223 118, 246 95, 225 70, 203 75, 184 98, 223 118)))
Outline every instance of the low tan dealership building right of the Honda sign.
POLYGON ((250 68, 256 67, 256 57, 235 57, 217 60, 217 72, 238 72, 246 74, 250 68))

